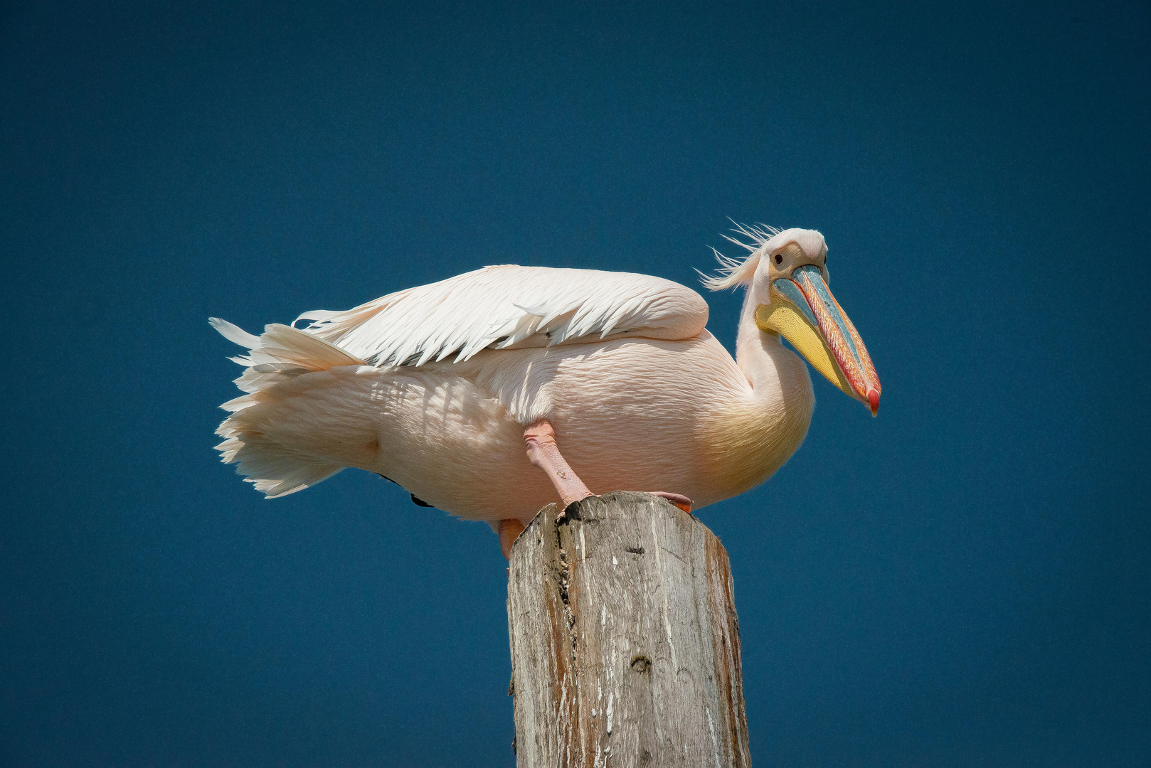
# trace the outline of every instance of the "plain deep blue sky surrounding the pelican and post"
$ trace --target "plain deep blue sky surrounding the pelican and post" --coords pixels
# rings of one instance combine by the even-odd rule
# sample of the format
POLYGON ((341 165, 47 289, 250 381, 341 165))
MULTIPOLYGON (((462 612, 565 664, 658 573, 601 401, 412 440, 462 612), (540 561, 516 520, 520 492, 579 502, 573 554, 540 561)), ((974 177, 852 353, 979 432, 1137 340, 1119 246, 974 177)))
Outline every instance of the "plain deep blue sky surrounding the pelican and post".
POLYGON ((264 501, 206 318, 698 286, 727 216, 824 233, 884 385, 701 512, 756 763, 1148 765, 1148 6, 419 5, 0 12, 5 765, 512 765, 490 529, 264 501))

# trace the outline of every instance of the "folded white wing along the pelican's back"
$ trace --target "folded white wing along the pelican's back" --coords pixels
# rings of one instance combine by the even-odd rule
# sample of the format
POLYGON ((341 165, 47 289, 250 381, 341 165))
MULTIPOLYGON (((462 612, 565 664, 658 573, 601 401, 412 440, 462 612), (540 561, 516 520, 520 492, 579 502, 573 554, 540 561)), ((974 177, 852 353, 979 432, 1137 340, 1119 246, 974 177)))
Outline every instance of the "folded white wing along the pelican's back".
POLYGON ((551 347, 619 336, 691 339, 703 297, 631 272, 483 267, 382 296, 345 312, 315 310, 305 328, 373 365, 422 365, 486 348, 551 347))

